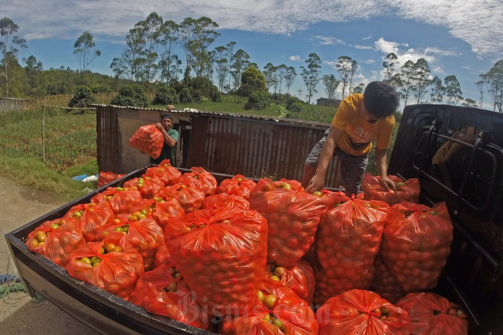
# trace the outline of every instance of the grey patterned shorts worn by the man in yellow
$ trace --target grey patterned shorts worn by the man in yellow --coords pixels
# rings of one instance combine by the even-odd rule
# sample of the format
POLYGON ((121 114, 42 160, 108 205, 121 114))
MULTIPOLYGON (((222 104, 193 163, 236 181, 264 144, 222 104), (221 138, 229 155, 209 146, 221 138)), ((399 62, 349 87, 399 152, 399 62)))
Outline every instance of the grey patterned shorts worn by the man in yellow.
MULTIPOLYGON (((318 166, 319 155, 321 154, 321 149, 323 148, 327 136, 328 130, 323 134, 323 138, 314 145, 309 155, 307 155, 304 164, 312 167, 318 166)), ((333 155, 339 157, 341 161, 341 185, 344 186, 344 189, 348 191, 348 193, 357 194, 362 186, 363 175, 369 163, 369 155, 350 155, 339 149, 339 147, 333 150, 333 155)))

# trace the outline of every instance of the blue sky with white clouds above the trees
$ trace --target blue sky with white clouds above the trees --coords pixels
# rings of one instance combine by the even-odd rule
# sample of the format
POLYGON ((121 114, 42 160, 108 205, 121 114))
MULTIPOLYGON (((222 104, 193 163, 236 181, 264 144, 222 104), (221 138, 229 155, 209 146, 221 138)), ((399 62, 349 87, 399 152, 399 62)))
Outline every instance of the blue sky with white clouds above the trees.
MULTIPOLYGON (((91 70, 110 75, 125 35, 151 12, 177 23, 206 16, 219 25, 221 34, 210 50, 234 41, 234 51, 246 51, 261 70, 269 62, 293 66, 299 75, 290 93, 298 96, 302 90, 302 99, 307 89, 300 66, 310 53, 321 58, 322 75, 338 77, 334 64, 340 56, 356 60, 356 84, 381 80, 389 52, 398 56, 399 66, 423 57, 432 76, 443 80, 456 75, 463 97, 476 101, 479 74, 503 59, 501 0, 0 0, 0 8, 0 16, 19 25, 18 36, 27 41, 20 60, 33 55, 44 69, 78 69, 73 44, 89 31, 102 52, 91 70)), ((175 52, 184 59, 180 49, 175 52)), ((321 82, 316 90, 311 102, 326 96, 321 82)), ((483 102, 492 109, 487 92, 483 102)))

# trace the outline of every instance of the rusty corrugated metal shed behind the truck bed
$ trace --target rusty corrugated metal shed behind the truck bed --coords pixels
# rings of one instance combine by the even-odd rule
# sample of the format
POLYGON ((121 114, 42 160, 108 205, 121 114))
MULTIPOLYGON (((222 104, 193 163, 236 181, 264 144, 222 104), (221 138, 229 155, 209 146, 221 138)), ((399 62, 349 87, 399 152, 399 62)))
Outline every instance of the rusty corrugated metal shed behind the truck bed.
MULTIPOLYGON (((129 147, 143 125, 158 122, 165 109, 94 105, 100 171, 127 173, 148 165, 148 157, 129 147)), ((182 168, 299 180, 305 157, 329 126, 324 123, 246 114, 172 110, 180 133, 177 162, 182 168)), ((339 165, 328 167, 326 186, 339 187, 339 165)))

